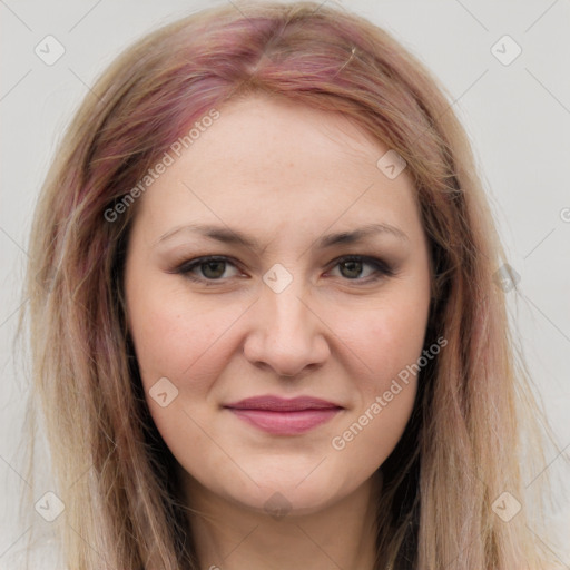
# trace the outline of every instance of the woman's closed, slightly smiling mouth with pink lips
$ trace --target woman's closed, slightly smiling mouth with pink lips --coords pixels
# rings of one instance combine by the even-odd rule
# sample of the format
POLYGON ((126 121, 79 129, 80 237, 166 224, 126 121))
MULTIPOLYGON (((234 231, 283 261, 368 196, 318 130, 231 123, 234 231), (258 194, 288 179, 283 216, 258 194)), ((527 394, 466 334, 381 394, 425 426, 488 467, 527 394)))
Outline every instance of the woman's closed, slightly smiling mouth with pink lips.
POLYGON ((265 432, 297 435, 332 420, 343 406, 316 397, 248 397, 224 405, 240 420, 265 432))

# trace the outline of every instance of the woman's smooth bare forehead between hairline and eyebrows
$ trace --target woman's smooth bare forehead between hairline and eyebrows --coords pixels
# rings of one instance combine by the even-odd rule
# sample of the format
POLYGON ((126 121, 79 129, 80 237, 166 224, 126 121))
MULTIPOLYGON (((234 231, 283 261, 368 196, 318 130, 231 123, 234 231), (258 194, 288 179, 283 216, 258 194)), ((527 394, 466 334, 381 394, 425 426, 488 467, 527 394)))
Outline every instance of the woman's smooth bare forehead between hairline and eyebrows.
POLYGON ((348 118, 259 95, 218 111, 145 193, 140 216, 157 230, 204 217, 322 229, 335 219, 417 222, 411 177, 386 177, 377 161, 389 147, 348 118))

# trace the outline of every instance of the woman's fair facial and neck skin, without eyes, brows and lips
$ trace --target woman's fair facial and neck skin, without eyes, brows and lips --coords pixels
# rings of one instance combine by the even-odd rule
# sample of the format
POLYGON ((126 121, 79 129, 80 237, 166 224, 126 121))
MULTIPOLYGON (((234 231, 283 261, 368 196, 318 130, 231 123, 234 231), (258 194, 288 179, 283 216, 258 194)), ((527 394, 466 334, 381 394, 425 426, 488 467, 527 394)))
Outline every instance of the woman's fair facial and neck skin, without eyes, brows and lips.
POLYGON ((203 568, 371 569, 375 473, 410 419, 416 379, 342 450, 332 441, 422 353, 430 259, 412 180, 405 169, 389 179, 376 167, 389 148, 340 115, 265 96, 219 111, 137 204, 125 288, 148 406, 178 461, 203 568), (243 232, 259 249, 184 229, 160 240, 198 223, 243 232), (317 247, 371 223, 405 237, 317 247), (208 255, 229 259, 196 266, 202 283, 174 272, 208 255), (367 261, 351 273, 346 255, 394 274, 371 281, 367 261), (278 293, 263 279, 274 264, 292 277, 278 293), (178 390, 165 407, 149 394, 161 377, 178 390), (223 407, 266 394, 343 410, 275 435, 223 407), (265 507, 272 497, 284 515, 265 507))

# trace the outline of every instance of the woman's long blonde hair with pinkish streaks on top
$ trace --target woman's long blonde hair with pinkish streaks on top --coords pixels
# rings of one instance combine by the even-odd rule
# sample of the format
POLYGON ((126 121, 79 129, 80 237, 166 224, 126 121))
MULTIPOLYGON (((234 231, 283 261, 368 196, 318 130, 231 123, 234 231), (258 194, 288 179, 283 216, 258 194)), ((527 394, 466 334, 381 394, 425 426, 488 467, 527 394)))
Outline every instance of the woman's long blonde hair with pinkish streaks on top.
POLYGON ((523 484, 546 464, 542 411, 509 334, 495 277, 505 258, 468 137, 445 90, 395 39, 316 2, 215 8, 150 33, 98 79, 57 153, 33 219, 27 295, 30 409, 43 415, 66 505, 67 564, 198 568, 125 320, 137 203, 114 220, 105 213, 198 117, 258 91, 341 112, 396 150, 430 238, 425 342, 448 345, 422 370, 411 421, 380 468, 377 568, 543 568, 527 505, 540 504, 544 478, 532 499, 523 484), (493 507, 501 497, 521 504, 508 522, 493 507))

